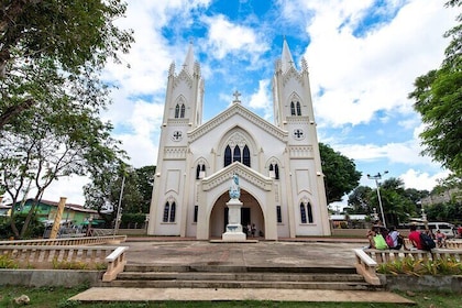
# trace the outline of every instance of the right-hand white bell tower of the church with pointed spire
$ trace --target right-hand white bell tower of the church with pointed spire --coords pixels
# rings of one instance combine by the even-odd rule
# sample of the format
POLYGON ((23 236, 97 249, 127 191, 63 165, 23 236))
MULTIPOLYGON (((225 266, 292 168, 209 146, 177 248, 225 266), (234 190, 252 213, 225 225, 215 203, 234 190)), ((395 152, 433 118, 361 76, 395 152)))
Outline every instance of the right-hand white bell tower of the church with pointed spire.
POLYGON ((297 231, 290 228, 290 237, 309 234, 317 223, 321 223, 323 234, 329 234, 308 64, 302 58, 301 68, 297 70, 286 38, 280 59, 275 65, 273 99, 275 125, 288 132, 285 172, 289 178, 287 194, 292 195, 290 226, 297 226, 300 221, 302 226, 302 230, 297 231))

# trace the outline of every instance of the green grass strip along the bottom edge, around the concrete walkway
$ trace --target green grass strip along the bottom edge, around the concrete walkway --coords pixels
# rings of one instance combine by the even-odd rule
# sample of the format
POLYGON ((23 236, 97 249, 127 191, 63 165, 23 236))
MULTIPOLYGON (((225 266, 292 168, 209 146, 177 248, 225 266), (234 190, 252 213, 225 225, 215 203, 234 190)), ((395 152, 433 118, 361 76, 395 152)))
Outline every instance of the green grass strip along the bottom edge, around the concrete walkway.
MULTIPOLYGON (((100 304, 84 304, 76 301, 68 301, 67 299, 82 290, 86 286, 78 288, 28 288, 2 286, 0 288, 0 307, 22 307, 14 304, 14 298, 21 295, 28 295, 31 299, 26 307, 213 307, 213 308, 229 308, 229 307, 283 307, 283 308, 301 308, 301 307, 320 307, 320 308, 396 308, 396 304, 359 304, 359 302, 280 302, 280 301, 163 301, 163 302, 100 302, 100 304)), ((435 308, 457 308, 461 307, 461 295, 446 294, 446 293, 416 293, 415 296, 409 297, 404 293, 399 295, 416 301, 416 306, 399 305, 399 307, 435 307, 435 308)))

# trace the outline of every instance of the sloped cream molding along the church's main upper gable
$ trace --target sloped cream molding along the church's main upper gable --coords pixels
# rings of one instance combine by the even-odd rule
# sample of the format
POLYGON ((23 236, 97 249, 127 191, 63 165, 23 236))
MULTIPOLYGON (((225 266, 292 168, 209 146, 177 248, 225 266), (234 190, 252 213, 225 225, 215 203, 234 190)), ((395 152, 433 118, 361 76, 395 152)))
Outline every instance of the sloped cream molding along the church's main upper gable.
POLYGON ((257 124, 260 128, 262 128, 267 133, 274 135, 275 138, 277 138, 280 141, 286 141, 287 140, 287 135, 288 135, 287 131, 284 131, 282 129, 271 124, 266 120, 260 118, 255 113, 245 109, 241 103, 234 103, 229 109, 224 110, 223 112, 221 112, 220 114, 218 114, 213 119, 209 120, 207 123, 205 123, 201 127, 188 132, 188 140, 190 142, 194 142, 195 140, 197 140, 201 135, 212 131, 215 128, 217 128, 218 125, 220 125, 222 122, 230 119, 234 114, 239 114, 239 116, 245 118, 246 120, 257 124))

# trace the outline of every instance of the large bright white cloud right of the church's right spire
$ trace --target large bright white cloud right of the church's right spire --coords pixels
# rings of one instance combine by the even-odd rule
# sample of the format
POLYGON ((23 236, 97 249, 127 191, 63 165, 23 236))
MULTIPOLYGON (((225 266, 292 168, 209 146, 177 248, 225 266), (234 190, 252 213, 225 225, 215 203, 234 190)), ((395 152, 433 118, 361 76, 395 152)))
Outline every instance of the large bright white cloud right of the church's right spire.
POLYGON ((442 33, 453 24, 454 12, 439 1, 409 1, 388 24, 355 37, 356 19, 371 2, 321 2, 298 3, 316 11, 307 24, 311 42, 305 56, 318 122, 359 124, 378 110, 411 112, 407 94, 419 74, 441 63, 442 33), (316 95, 320 89, 323 96, 316 95))

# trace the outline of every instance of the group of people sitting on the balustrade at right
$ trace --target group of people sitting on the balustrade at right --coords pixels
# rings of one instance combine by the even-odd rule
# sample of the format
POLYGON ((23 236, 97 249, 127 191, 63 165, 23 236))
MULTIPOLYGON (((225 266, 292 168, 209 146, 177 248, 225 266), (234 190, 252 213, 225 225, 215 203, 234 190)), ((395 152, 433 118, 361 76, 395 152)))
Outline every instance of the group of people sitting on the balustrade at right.
MULTIPOLYGON (((435 241, 436 246, 446 248, 447 235, 440 230, 437 230, 436 234, 433 234, 430 229, 420 232, 417 230, 417 226, 413 224, 410 226, 409 231, 410 232, 408 239, 414 249, 428 250, 427 243, 425 243, 425 239, 427 238, 430 238, 432 241, 435 241), (422 237, 421 233, 425 233, 427 237, 422 237)), ((396 228, 392 226, 389 229, 387 229, 381 223, 381 221, 376 221, 374 223, 371 230, 367 231, 366 237, 369 239, 370 249, 400 250, 403 248, 404 250, 409 250, 409 248, 406 246, 404 237, 399 234, 396 228)))

